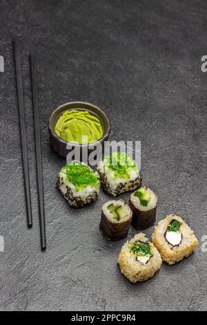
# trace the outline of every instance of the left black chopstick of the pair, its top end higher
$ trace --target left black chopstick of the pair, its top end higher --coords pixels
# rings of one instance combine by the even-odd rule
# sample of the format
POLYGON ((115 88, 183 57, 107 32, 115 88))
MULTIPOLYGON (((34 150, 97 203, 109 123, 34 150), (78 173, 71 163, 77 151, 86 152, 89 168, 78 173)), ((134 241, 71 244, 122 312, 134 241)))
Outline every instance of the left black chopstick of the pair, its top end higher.
POLYGON ((19 123, 20 123, 20 134, 21 134, 21 151, 23 161, 23 176, 26 194, 26 209, 27 209, 27 221, 28 228, 32 227, 32 205, 31 205, 31 194, 30 194, 30 175, 28 165, 28 148, 26 140, 26 122, 24 118, 24 107, 23 107, 23 84, 21 75, 21 52, 20 44, 17 39, 14 39, 14 58, 17 74, 17 95, 19 104, 19 123))

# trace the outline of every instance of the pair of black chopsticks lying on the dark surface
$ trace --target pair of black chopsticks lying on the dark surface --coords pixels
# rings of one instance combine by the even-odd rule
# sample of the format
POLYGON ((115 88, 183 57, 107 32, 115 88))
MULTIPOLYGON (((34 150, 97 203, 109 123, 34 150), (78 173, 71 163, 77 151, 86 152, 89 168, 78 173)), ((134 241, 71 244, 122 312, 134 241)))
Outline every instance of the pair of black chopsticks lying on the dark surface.
MULTIPOLYGON (((32 227, 32 205, 30 194, 30 174, 28 164, 28 149, 26 140, 26 122, 24 117, 23 105, 23 83, 21 73, 21 48, 18 39, 14 40, 14 57, 17 74, 17 95, 19 104, 19 123, 21 135, 21 150, 23 162, 23 176, 25 183, 26 194, 26 209, 28 228, 32 227)), ((37 187, 39 198, 39 226, 41 238, 41 250, 46 250, 46 225, 45 225, 45 210, 43 200, 43 169, 41 160, 41 133, 39 127, 39 100, 38 100, 38 76, 37 76, 37 59, 35 55, 30 53, 30 68, 32 80, 32 95, 33 95, 33 111, 34 111, 34 137, 35 137, 35 151, 37 162, 37 187)))

